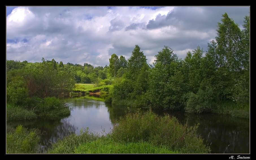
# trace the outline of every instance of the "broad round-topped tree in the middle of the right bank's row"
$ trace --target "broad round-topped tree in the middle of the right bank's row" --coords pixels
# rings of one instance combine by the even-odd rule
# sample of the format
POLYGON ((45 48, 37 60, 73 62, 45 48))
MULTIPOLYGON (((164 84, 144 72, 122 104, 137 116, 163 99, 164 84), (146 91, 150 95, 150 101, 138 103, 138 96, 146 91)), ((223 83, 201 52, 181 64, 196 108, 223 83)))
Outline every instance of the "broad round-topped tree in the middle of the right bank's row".
POLYGON ((164 46, 155 57, 155 67, 149 72, 149 100, 155 108, 180 109, 182 91, 177 88, 181 89, 183 84, 179 72, 182 63, 168 46, 164 46))

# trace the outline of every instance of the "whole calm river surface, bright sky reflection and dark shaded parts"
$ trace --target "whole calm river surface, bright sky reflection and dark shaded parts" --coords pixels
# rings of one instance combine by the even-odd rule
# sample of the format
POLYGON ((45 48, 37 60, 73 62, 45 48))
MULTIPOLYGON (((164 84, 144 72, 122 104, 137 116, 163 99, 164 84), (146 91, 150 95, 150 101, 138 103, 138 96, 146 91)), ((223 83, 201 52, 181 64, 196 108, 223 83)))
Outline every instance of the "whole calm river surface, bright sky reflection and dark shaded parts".
MULTIPOLYGON (((42 149, 71 133, 79 134, 81 128, 89 127, 91 132, 106 134, 114 121, 127 114, 123 106, 109 106, 102 99, 77 97, 65 99, 71 108, 71 115, 59 120, 37 119, 30 122, 15 122, 27 128, 38 128, 42 135, 42 149), (105 131, 105 132, 104 132, 105 131)), ((163 115, 163 112, 156 112, 163 115)), ((166 112, 165 112, 166 113, 166 112)), ((250 153, 250 121, 231 116, 214 114, 168 113, 189 126, 199 123, 198 134, 211 147, 212 153, 250 153)))

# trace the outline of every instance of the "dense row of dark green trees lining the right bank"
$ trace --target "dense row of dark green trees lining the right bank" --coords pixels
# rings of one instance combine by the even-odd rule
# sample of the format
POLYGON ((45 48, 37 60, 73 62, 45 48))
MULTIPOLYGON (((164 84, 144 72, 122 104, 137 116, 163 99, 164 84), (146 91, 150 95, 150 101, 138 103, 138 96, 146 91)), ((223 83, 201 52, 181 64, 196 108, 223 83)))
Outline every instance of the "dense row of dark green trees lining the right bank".
POLYGON ((136 45, 127 71, 112 81, 112 103, 226 114, 225 109, 220 110, 225 103, 233 108, 242 106, 249 115, 250 18, 245 17, 241 30, 227 13, 222 17, 216 41, 208 44, 205 56, 197 46, 182 60, 164 46, 150 68, 136 45))

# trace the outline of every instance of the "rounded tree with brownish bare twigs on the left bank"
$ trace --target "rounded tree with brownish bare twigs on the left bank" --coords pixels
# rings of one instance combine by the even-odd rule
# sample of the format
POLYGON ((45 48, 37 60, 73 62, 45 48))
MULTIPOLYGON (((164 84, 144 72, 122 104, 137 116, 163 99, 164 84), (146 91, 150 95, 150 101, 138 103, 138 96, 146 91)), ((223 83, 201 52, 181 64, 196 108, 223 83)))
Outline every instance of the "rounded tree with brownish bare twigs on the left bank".
POLYGON ((67 68, 55 69, 55 61, 45 61, 27 65, 23 75, 27 81, 29 96, 57 97, 70 92, 75 85, 73 75, 67 68))

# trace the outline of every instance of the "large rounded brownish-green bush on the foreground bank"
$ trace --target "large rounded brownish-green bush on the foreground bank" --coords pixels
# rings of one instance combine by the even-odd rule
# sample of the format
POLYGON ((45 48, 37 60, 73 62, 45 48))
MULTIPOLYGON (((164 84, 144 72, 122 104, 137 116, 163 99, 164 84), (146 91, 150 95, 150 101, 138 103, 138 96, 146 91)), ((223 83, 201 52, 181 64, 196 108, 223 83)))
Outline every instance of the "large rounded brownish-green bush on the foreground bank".
POLYGON ((170 150, 182 153, 210 153, 210 148, 203 145, 203 139, 197 134, 198 125, 181 125, 175 117, 159 117, 150 110, 144 114, 128 114, 114 125, 111 136, 122 142, 150 142, 164 145, 170 150))

